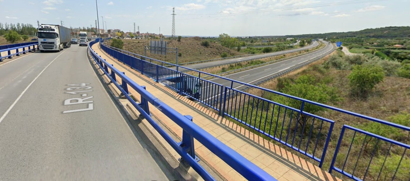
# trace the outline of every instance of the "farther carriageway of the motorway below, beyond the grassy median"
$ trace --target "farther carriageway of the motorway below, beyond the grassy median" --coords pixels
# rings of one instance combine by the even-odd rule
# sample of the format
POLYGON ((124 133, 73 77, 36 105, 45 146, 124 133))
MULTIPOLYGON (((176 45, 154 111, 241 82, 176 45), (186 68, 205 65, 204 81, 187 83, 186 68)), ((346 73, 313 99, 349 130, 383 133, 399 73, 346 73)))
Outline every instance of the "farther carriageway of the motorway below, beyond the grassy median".
MULTIPOLYGON (((220 61, 211 61, 211 62, 205 62, 205 63, 196 63, 196 64, 189 64, 186 65, 184 67, 187 68, 191 68, 191 69, 200 69, 200 68, 204 68, 204 67, 208 67, 208 66, 216 66, 219 64, 225 64, 225 63, 235 63, 237 61, 246 61, 246 60, 251 60, 251 59, 259 59, 259 58, 265 58, 265 57, 272 57, 272 56, 276 56, 276 55, 280 55, 280 54, 287 54, 287 53, 292 53, 292 52, 298 52, 301 50, 307 50, 310 48, 314 48, 317 45, 319 45, 319 43, 317 43, 317 41, 314 41, 312 44, 302 47, 302 48, 296 48, 296 49, 292 49, 292 50, 284 50, 284 51, 280 51, 280 52, 272 52, 272 53, 265 53, 265 54, 258 54, 258 55, 253 55, 253 56, 248 56, 248 57, 240 57, 240 58, 234 58, 234 59, 224 59, 224 60, 220 60, 220 61)), ((173 68, 174 70, 176 70, 176 68, 173 68)), ((184 71, 187 70, 185 68, 178 68, 178 71, 184 71)))

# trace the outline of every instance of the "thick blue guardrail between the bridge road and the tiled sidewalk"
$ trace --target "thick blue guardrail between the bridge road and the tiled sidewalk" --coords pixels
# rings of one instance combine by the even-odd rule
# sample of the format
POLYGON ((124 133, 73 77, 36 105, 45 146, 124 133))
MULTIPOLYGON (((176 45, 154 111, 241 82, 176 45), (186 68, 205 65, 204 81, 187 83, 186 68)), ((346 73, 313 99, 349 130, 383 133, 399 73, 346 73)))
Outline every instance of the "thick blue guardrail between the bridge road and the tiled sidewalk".
MULTIPOLYGON (((225 163, 230 165, 239 174, 244 176, 248 180, 254 181, 276 181, 272 176, 266 173, 261 168, 257 167, 251 161, 235 152, 235 150, 223 144, 221 141, 213 137, 210 133, 200 128, 198 125, 192 122, 192 117, 189 115, 181 115, 168 105, 164 104, 157 97, 150 94, 144 86, 139 86, 132 81, 123 72, 120 72, 114 66, 107 63, 102 59, 95 51, 91 49, 91 46, 96 41, 89 43, 89 52, 93 57, 93 60, 100 66, 101 70, 105 72, 105 75, 111 79, 111 81, 119 88, 125 97, 131 102, 131 104, 141 113, 144 118, 158 131, 158 133, 180 154, 182 159, 186 161, 200 176, 205 180, 214 180, 214 178, 198 163, 198 159, 195 156, 194 150, 194 138, 209 149, 213 154, 221 158, 225 163), (117 82, 117 77, 121 78, 121 85, 117 82), (138 104, 128 95, 128 86, 133 88, 141 95, 141 103, 138 104), (148 102, 158 109, 176 124, 182 128, 182 142, 177 143, 169 136, 151 117, 148 107, 148 102)), ((129 57, 122 57, 130 59, 129 57)), ((142 61, 141 61, 142 62, 142 61)))

